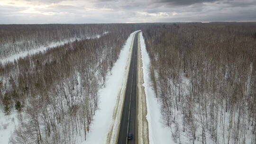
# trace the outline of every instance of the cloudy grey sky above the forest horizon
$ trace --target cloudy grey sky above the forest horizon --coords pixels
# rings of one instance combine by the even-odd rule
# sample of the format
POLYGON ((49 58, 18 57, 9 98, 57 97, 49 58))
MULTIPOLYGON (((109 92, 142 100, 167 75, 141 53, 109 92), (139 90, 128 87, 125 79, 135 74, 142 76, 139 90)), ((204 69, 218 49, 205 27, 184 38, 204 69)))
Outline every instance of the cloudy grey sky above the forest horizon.
POLYGON ((0 0, 0 24, 256 21, 256 0, 0 0))

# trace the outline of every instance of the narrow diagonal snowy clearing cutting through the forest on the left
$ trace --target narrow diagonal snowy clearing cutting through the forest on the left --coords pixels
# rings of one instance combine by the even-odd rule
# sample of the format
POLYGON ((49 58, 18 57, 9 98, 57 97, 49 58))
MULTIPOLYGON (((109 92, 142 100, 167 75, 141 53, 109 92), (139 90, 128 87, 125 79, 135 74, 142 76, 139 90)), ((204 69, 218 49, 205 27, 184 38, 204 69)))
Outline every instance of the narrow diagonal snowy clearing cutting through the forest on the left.
MULTIPOLYGON (((106 35, 108 33, 109 32, 104 32, 102 35, 85 37, 84 39, 100 38, 101 36, 106 35)), ((36 49, 31 49, 29 51, 24 51, 24 52, 21 52, 21 53, 18 53, 18 54, 13 54, 13 55, 11 55, 9 57, 0 59, 0 63, 13 62, 14 60, 18 60, 19 58, 26 57, 27 55, 32 55, 32 54, 37 54, 39 52, 44 52, 47 49, 54 48, 54 47, 61 46, 61 45, 65 45, 67 43, 74 42, 75 40, 82 40, 82 38, 70 38, 68 40, 64 40, 64 41, 60 41, 60 42, 55 42, 55 43, 50 43, 47 46, 41 46, 41 47, 38 47, 36 49)))

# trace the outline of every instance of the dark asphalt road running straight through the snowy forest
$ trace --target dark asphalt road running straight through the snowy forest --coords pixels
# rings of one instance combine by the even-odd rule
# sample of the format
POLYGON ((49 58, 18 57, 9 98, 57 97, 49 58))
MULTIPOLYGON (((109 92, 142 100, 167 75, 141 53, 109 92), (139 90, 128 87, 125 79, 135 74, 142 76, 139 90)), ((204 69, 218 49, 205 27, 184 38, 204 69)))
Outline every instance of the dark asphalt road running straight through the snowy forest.
POLYGON ((125 92, 125 101, 123 105, 123 112, 120 123, 118 144, 136 144, 137 141, 137 47, 138 32, 135 34, 133 42, 132 58, 125 92), (128 133, 133 134, 132 140, 128 140, 128 133))

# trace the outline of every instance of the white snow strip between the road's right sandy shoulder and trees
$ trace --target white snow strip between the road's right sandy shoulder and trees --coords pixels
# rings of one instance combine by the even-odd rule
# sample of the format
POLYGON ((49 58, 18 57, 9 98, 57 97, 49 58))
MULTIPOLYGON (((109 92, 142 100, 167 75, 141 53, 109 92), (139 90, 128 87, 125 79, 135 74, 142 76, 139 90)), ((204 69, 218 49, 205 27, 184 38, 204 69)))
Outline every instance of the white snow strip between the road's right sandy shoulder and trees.
POLYGON ((161 106, 157 102, 155 92, 151 88, 150 83, 150 72, 149 65, 150 59, 146 51, 146 45, 142 32, 140 36, 140 47, 142 54, 142 68, 143 68, 143 79, 146 93, 146 107, 147 107, 147 121, 148 121, 148 133, 149 133, 149 144, 175 144, 172 140, 171 129, 163 125, 161 116, 161 106))

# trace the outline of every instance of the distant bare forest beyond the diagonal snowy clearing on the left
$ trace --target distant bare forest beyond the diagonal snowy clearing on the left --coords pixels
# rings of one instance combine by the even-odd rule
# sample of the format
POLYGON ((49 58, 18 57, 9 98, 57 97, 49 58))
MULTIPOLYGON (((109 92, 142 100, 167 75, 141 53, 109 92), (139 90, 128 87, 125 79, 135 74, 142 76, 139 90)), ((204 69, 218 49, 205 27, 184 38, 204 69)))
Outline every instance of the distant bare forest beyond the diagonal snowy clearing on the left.
POLYGON ((95 38, 114 30, 115 24, 0 25, 0 58, 54 43, 95 38))

